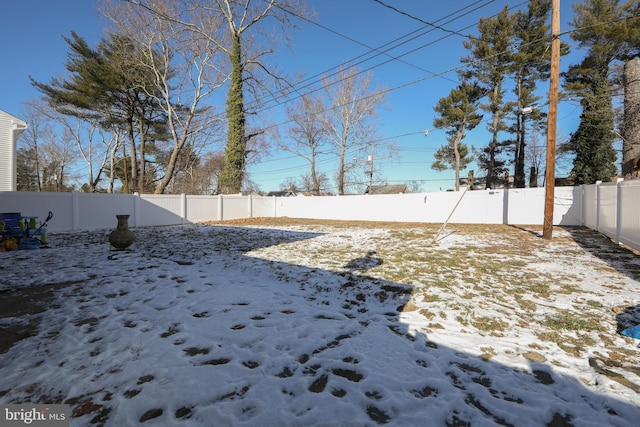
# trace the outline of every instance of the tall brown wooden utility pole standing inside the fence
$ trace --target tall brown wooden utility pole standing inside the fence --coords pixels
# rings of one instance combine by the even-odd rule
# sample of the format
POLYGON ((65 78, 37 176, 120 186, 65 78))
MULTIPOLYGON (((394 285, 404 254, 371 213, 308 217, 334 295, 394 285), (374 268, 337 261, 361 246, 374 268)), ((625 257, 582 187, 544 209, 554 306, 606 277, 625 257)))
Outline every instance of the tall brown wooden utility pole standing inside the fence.
POLYGON ((556 184, 556 128, 558 121, 558 80, 560 79, 560 0, 551 3, 551 77, 549 80, 549 114, 547 116, 547 165, 544 185, 544 222, 542 238, 553 235, 553 204, 556 184))

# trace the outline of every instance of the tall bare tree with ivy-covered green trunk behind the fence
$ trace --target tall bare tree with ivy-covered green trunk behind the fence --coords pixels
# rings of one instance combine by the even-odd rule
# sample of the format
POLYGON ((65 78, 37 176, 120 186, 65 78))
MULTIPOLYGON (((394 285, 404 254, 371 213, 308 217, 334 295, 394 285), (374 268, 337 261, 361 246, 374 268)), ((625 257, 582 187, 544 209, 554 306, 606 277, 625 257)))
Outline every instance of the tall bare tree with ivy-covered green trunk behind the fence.
MULTIPOLYGON (((274 67, 264 58, 273 52, 277 27, 286 38, 292 26, 291 16, 305 16, 304 0, 126 0, 159 17, 174 31, 186 30, 199 43, 210 44, 226 60, 226 70, 220 75, 228 77, 227 145, 225 169, 220 176, 220 190, 240 191, 245 175, 247 143, 261 134, 257 129, 247 131, 245 95, 251 94, 256 108, 261 103, 260 93, 272 91, 271 83, 279 79, 274 67), (196 37, 195 35, 198 35, 196 37)), ((113 15, 117 19, 116 15, 113 15)), ((279 39, 282 39, 280 37, 279 39)), ((190 47, 184 46, 185 49, 190 47)))

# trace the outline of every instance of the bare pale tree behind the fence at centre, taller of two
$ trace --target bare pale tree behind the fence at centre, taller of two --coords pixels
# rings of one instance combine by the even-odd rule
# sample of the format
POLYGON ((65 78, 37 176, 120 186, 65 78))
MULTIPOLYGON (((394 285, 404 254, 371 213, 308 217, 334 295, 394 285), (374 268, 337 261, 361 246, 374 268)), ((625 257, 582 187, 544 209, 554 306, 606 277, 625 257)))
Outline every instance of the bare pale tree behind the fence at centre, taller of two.
POLYGON ((344 194, 347 174, 358 166, 358 156, 373 151, 376 144, 378 108, 384 103, 385 92, 372 88, 372 80, 371 73, 360 74, 350 68, 322 82, 331 102, 325 127, 338 154, 336 182, 339 195, 344 194), (355 156, 356 160, 349 161, 348 156, 355 156))

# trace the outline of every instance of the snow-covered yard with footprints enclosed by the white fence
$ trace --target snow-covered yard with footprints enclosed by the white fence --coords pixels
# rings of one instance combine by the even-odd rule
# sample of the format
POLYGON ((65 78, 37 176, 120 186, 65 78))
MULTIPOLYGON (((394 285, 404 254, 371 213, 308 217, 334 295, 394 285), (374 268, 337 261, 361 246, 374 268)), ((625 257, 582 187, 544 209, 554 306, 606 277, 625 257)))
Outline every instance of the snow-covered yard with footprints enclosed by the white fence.
POLYGON ((640 256, 586 229, 255 220, 0 253, 0 403, 72 426, 628 426, 640 256), (452 234, 448 234, 451 233, 452 234))

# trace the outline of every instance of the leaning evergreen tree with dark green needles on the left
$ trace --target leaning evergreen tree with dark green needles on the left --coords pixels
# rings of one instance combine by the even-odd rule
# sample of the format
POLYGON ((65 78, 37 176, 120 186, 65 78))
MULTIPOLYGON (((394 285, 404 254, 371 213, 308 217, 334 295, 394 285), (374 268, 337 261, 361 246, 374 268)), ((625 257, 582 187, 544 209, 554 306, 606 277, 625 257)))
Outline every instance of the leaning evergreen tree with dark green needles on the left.
POLYGON ((54 78, 49 84, 31 79, 32 84, 60 113, 124 130, 133 160, 131 170, 125 171, 125 192, 144 192, 146 142, 166 138, 165 118, 146 92, 153 76, 133 60, 139 54, 131 39, 104 39, 95 50, 75 32, 65 41, 71 49, 66 64, 70 77, 54 78))

